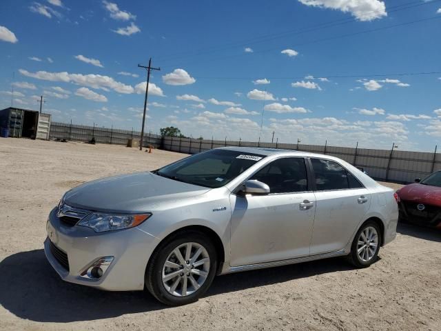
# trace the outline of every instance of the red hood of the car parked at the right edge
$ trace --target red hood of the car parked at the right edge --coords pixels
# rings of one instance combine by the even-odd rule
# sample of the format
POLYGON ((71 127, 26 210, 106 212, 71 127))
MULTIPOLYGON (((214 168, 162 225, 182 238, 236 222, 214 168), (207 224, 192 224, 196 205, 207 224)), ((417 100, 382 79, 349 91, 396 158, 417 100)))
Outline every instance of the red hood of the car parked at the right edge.
POLYGON ((438 205, 441 207, 441 188, 438 186, 414 183, 404 186, 397 193, 403 201, 438 205))

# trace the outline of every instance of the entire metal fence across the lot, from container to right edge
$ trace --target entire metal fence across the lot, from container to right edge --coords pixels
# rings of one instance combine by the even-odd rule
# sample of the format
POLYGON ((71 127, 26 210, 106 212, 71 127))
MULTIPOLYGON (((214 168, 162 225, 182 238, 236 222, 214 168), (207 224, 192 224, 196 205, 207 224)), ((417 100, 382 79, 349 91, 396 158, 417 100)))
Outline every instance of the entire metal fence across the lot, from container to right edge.
MULTIPOLYGON (((52 122, 50 139, 89 141, 95 137, 96 143, 116 143, 125 145, 127 139, 139 140, 141 132, 114 128, 79 126, 69 123, 52 122)), ((218 141, 189 138, 164 137, 145 134, 144 147, 149 145, 164 150, 195 154, 224 146, 279 148, 301 150, 339 157, 353 165, 365 168, 369 176, 397 183, 409 183, 416 178, 424 178, 433 171, 441 170, 441 154, 433 152, 409 152, 403 150, 372 150, 367 148, 347 148, 336 146, 298 145, 296 143, 262 143, 253 141, 218 141)))

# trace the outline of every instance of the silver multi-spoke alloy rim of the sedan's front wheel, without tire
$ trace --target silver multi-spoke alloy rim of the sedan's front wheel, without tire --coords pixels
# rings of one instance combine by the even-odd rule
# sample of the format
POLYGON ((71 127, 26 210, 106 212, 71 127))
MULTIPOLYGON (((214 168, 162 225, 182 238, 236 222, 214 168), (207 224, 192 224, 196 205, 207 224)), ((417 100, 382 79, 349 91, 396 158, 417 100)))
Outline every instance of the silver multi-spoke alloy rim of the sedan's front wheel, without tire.
POLYGON ((183 243, 169 254, 162 270, 165 289, 175 297, 196 292, 209 273, 209 255, 200 243, 183 243))

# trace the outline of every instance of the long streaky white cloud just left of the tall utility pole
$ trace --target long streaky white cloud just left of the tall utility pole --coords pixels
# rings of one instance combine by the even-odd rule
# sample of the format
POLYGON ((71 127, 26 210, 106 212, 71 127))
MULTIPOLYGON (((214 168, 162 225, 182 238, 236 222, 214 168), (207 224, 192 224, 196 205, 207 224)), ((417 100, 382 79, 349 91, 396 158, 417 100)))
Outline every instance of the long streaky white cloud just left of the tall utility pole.
POLYGON ((124 94, 131 94, 134 88, 130 85, 125 85, 119 81, 115 81, 112 77, 103 76, 101 74, 70 74, 69 72, 47 72, 37 71, 28 72, 28 70, 20 69, 19 72, 26 77, 41 79, 43 81, 63 81, 65 83, 75 83, 90 88, 101 90, 108 90, 109 88, 124 94))

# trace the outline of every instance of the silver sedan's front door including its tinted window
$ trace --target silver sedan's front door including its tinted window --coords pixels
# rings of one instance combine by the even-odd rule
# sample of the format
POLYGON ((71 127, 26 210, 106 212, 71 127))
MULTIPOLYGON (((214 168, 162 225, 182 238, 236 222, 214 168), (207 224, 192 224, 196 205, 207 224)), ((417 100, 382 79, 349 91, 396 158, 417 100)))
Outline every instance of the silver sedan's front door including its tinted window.
POLYGON ((316 200, 309 190, 305 159, 277 159, 251 179, 269 185, 270 194, 231 194, 230 265, 307 256, 316 200))

